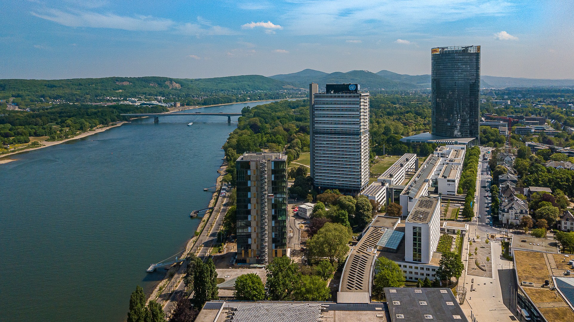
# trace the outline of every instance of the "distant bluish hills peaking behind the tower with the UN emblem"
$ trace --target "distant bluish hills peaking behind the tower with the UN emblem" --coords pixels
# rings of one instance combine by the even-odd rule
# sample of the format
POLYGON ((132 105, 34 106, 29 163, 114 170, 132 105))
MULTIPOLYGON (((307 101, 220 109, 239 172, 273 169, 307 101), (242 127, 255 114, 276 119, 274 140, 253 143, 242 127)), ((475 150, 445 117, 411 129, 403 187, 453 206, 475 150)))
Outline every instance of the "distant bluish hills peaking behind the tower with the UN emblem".
POLYGON ((324 73, 319 70, 305 69, 301 72, 291 74, 280 74, 269 76, 277 80, 286 81, 301 88, 307 88, 309 83, 319 84, 319 88, 324 88, 325 84, 336 83, 357 83, 364 89, 414 89, 415 84, 404 83, 402 81, 389 80, 388 78, 371 73, 367 70, 351 70, 350 72, 324 73))

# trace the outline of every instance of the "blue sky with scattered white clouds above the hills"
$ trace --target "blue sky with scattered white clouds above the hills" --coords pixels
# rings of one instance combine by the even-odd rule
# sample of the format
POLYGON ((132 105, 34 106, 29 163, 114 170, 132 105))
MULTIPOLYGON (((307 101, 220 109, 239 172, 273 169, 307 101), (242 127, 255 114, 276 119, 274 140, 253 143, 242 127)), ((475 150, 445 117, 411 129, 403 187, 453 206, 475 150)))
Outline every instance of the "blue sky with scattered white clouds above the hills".
POLYGON ((0 2, 0 78, 386 69, 430 73, 430 48, 481 46, 481 73, 574 78, 571 0, 0 2))

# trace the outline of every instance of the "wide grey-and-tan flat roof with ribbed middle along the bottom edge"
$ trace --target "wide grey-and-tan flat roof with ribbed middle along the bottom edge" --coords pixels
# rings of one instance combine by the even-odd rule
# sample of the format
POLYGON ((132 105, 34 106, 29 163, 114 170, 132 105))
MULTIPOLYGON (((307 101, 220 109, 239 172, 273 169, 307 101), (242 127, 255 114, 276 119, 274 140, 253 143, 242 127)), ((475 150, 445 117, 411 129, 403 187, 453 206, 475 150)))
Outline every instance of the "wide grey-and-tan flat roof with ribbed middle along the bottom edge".
POLYGON ((387 322, 385 303, 210 301, 197 322, 387 322), (219 311, 221 310, 221 311, 219 311))

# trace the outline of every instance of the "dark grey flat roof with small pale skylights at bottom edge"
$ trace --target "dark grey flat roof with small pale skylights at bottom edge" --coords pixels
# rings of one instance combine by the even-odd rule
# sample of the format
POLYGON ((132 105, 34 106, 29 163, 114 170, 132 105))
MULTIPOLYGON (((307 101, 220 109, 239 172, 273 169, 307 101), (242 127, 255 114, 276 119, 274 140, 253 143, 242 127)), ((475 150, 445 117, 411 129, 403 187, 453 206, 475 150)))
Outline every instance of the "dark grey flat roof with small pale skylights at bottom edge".
POLYGON ((391 321, 467 321, 449 288, 385 288, 391 321), (429 316, 430 315, 430 316, 429 316))

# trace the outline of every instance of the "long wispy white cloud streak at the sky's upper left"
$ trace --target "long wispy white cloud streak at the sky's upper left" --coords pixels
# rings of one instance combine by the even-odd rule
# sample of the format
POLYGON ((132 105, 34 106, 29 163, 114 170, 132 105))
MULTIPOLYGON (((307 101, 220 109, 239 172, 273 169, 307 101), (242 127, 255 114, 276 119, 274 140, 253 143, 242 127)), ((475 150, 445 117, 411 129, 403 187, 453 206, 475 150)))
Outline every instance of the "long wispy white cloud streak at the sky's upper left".
POLYGON ((32 15, 68 27, 162 31, 172 28, 175 24, 169 19, 149 16, 125 17, 111 13, 100 14, 87 11, 64 12, 57 9, 47 9, 45 13, 32 12, 32 15))

